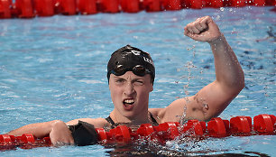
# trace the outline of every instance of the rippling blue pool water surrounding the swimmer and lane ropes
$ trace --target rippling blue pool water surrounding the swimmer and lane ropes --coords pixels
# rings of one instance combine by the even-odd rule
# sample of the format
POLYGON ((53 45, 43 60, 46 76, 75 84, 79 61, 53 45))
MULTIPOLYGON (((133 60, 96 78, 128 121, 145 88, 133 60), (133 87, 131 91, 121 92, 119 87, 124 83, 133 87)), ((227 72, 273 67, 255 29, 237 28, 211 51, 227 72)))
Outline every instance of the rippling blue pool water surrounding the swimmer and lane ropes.
MULTIPOLYGON (((184 37, 183 28, 203 15, 212 16, 224 32, 245 74, 244 90, 220 117, 276 115, 276 19, 271 9, 247 6, 1 20, 0 134, 31 123, 109 115, 113 104, 106 63, 113 51, 126 44, 149 51, 155 61, 150 107, 168 106, 178 97, 196 94, 215 79, 214 60, 209 45, 184 37)), ((230 136, 153 145, 150 151, 156 155, 275 156, 275 145, 273 135, 230 136)), ((143 146, 133 149, 149 151, 143 146)), ((0 156, 116 154, 122 154, 120 149, 101 145, 0 152, 0 156)))

